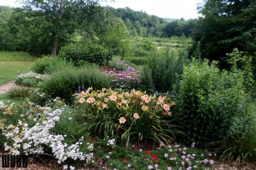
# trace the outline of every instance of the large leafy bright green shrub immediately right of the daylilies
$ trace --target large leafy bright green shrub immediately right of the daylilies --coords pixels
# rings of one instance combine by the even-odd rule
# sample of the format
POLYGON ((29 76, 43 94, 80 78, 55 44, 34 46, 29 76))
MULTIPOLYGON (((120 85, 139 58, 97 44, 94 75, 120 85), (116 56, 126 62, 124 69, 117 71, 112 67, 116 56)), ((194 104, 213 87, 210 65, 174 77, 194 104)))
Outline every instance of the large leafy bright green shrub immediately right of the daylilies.
POLYGON ((220 71, 213 62, 193 59, 179 84, 180 123, 189 141, 231 137, 246 108, 241 71, 220 71))

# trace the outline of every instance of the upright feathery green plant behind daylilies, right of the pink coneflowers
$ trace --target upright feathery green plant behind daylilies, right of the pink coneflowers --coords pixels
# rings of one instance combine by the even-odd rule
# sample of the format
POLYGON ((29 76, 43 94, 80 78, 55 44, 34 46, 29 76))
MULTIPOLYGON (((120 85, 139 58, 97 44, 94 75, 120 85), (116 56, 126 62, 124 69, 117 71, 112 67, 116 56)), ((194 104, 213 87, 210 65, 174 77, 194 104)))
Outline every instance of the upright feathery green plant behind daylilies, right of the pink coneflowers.
POLYGON ((177 82, 177 76, 182 74, 183 66, 188 62, 186 50, 177 52, 166 48, 159 51, 148 60, 155 90, 171 91, 177 82))

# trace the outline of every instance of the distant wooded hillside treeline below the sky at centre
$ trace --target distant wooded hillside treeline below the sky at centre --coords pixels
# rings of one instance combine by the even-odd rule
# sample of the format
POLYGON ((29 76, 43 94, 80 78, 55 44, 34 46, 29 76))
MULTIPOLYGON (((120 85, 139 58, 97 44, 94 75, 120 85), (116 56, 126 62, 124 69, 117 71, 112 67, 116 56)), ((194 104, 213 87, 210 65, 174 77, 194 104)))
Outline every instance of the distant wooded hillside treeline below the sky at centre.
POLYGON ((133 11, 129 7, 113 8, 105 7, 113 17, 124 20, 127 29, 132 36, 142 37, 172 37, 172 36, 191 36, 197 19, 173 20, 166 22, 164 19, 155 15, 148 15, 143 11, 133 11))

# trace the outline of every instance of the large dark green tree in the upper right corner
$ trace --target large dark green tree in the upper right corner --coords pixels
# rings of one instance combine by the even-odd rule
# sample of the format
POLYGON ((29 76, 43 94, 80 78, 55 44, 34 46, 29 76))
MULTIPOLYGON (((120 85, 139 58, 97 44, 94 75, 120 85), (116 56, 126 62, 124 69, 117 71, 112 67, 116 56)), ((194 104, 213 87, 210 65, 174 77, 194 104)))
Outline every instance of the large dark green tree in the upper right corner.
POLYGON ((208 0, 200 6, 203 15, 194 32, 201 42, 202 57, 219 60, 227 66, 226 56, 234 48, 253 55, 256 51, 256 1, 208 0))

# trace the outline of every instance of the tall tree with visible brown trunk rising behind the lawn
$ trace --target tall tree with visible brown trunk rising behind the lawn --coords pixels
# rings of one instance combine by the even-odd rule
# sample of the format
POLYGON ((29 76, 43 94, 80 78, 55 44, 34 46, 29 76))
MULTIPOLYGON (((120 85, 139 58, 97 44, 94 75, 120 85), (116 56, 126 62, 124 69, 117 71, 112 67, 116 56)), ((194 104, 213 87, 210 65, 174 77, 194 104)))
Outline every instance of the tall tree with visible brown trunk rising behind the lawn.
POLYGON ((30 18, 41 16, 49 26, 51 54, 57 55, 58 40, 71 35, 81 19, 90 17, 89 11, 99 6, 99 0, 24 0, 24 8, 30 18))

